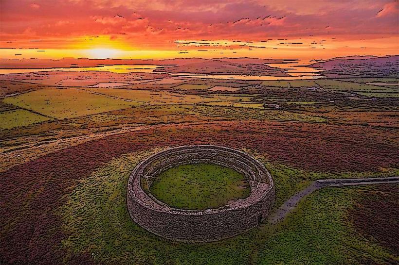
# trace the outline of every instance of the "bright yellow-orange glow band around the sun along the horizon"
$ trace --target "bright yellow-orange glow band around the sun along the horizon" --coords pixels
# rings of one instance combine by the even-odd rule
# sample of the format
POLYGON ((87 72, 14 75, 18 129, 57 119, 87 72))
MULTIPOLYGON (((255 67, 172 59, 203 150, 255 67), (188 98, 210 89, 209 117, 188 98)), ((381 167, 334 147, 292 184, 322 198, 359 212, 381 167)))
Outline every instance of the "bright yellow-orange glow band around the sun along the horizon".
POLYGON ((1 59, 61 59, 89 58, 89 59, 171 59, 171 58, 220 58, 220 57, 253 57, 264 59, 329 59, 333 57, 352 55, 384 56, 397 54, 398 36, 389 38, 375 38, 367 40, 336 40, 325 38, 319 43, 313 43, 312 38, 268 40, 265 43, 257 42, 228 42, 226 40, 200 41, 179 40, 174 49, 152 48, 137 49, 122 39, 111 40, 109 36, 93 37, 93 39, 73 39, 62 49, 47 48, 49 41, 40 43, 43 48, 11 48, 12 43, 4 44, 1 49, 1 59), (215 46, 207 46, 207 45, 215 46), (237 45, 238 43, 238 45, 237 45), (223 45, 221 45, 223 44, 223 45), (262 46, 261 46, 262 45, 262 46), (10 46, 8 48, 7 46, 10 46), (261 47, 260 47, 261 46, 261 47))

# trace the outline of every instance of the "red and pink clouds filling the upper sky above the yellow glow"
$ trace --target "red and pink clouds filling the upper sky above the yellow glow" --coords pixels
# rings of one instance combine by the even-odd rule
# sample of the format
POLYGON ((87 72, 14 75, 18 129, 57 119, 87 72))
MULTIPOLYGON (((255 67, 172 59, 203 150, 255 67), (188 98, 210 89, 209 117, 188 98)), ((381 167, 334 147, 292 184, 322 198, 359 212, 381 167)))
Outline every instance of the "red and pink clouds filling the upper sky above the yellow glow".
POLYGON ((0 1, 0 37, 32 47, 27 40, 35 34, 43 49, 65 49, 73 39, 101 34, 134 47, 173 49, 181 39, 345 41, 398 32, 398 2, 392 0, 51 0, 40 6, 31 0, 28 8, 20 7, 25 0, 0 1))

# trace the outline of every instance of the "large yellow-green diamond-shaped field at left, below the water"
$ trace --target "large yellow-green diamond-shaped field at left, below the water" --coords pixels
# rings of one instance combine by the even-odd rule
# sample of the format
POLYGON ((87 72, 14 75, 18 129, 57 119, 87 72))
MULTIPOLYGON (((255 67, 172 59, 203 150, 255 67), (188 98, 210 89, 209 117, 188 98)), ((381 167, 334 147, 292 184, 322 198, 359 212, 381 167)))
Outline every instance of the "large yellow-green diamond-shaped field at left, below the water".
POLYGON ((74 88, 40 89, 5 98, 4 102, 60 119, 86 116, 140 105, 137 102, 112 99, 74 88))

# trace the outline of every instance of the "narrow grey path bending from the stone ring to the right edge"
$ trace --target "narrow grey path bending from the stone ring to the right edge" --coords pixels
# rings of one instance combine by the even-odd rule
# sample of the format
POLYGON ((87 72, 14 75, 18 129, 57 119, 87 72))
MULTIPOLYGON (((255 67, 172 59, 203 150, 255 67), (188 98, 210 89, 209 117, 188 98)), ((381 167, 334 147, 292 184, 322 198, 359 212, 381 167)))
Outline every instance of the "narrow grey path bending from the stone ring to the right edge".
POLYGON ((299 201, 312 193, 313 191, 324 188, 324 187, 341 187, 351 185, 367 185, 367 184, 383 184, 383 183, 399 183, 399 177, 389 178, 363 178, 363 179, 328 179, 328 180, 317 180, 312 182, 307 188, 296 193, 283 205, 280 206, 274 213, 269 215, 268 221, 272 224, 284 220, 284 218, 295 209, 299 201))

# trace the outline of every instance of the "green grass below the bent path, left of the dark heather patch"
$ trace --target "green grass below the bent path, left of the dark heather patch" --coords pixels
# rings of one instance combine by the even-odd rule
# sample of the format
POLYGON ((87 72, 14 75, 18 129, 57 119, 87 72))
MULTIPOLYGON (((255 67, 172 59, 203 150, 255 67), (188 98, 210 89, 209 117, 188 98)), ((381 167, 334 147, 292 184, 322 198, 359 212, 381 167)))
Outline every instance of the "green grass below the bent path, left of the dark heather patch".
MULTIPOLYGON (((386 264, 398 257, 365 240, 347 211, 378 186, 325 188, 302 200, 296 211, 268 232, 259 264, 386 264)), ((381 220, 383 221, 383 220, 381 220)))

